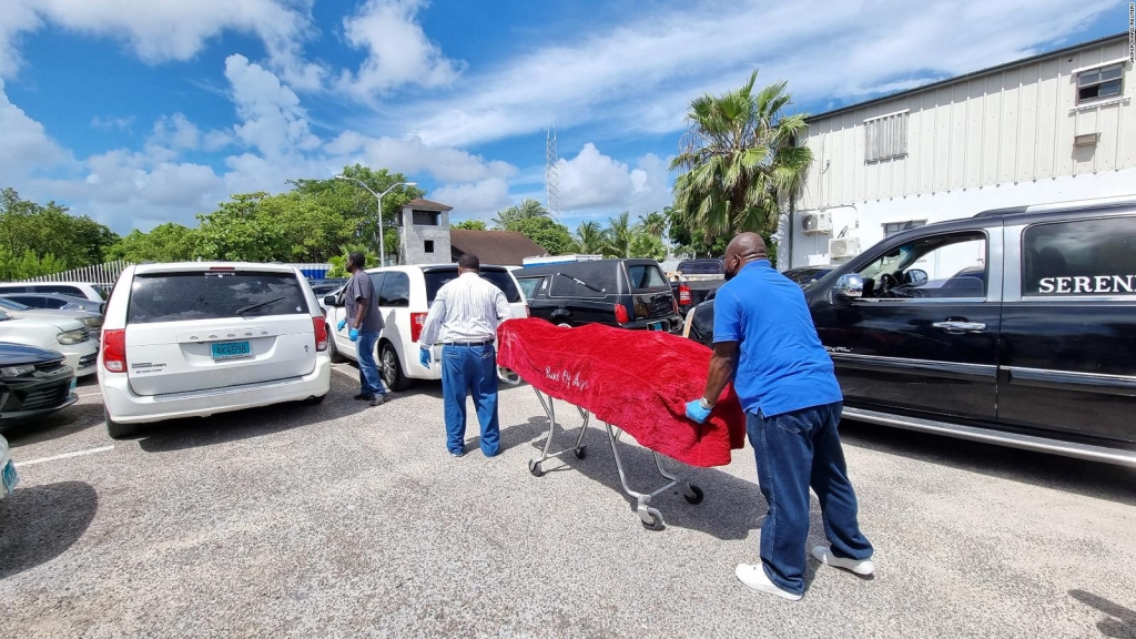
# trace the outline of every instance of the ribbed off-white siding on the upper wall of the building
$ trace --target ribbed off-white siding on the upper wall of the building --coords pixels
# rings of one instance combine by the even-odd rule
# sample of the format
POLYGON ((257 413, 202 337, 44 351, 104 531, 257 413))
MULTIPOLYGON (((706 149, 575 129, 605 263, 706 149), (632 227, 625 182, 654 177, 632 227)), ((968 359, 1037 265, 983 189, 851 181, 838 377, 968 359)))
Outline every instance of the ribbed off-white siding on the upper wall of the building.
POLYGON ((804 143, 816 161, 799 208, 1134 168, 1133 69, 1122 101, 1081 108, 1072 74, 1126 52, 1117 40, 813 121, 804 143), (907 156, 866 164, 864 119, 903 109, 907 156), (1083 133, 1100 133, 1100 141, 1075 149, 1083 133))

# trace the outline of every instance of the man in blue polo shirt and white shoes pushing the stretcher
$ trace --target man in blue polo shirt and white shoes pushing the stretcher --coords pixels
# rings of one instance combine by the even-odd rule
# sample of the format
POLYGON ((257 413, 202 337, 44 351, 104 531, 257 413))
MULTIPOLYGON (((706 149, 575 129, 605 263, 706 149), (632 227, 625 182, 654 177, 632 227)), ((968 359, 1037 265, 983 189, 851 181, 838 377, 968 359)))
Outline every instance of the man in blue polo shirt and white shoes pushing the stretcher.
POLYGON ((804 293, 772 268, 757 233, 742 233, 729 243, 726 279, 715 299, 705 392, 686 406, 686 415, 704 422, 726 383, 734 381, 769 505, 761 525, 761 562, 738 564, 737 578, 761 592, 801 598, 810 486, 830 542, 812 555, 830 566, 871 574, 872 547, 857 522, 855 492, 836 432, 844 398, 804 293))

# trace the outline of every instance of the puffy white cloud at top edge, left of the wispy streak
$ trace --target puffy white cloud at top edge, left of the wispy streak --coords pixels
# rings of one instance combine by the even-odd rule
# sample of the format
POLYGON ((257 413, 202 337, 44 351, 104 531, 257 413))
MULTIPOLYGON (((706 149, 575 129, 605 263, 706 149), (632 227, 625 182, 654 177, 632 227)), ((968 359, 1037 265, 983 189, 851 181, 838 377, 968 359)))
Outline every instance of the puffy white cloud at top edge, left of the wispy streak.
POLYGON ((344 70, 340 89, 361 97, 395 86, 442 86, 461 73, 463 63, 442 53, 417 22, 424 0, 368 0, 359 13, 344 18, 343 33, 367 59, 358 73, 344 70))

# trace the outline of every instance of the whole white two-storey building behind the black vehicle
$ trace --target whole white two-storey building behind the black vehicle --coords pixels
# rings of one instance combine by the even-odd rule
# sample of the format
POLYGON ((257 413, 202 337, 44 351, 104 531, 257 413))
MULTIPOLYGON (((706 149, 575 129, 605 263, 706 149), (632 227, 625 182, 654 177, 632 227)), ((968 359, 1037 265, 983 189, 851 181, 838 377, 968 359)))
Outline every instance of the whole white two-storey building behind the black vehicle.
POLYGON ((1131 73, 1124 33, 810 117, 778 266, 986 209, 1136 193, 1131 73))

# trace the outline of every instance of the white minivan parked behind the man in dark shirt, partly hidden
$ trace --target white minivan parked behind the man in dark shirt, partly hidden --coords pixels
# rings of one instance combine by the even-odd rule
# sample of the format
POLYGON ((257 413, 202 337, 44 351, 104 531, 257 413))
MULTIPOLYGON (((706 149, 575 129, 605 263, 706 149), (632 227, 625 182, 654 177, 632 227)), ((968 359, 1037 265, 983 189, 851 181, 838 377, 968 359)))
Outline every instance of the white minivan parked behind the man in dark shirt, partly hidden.
MULTIPOLYGON (((525 297, 507 267, 482 266, 481 273, 482 277, 504 293, 512 307, 513 317, 528 316, 525 297)), ((392 390, 404 390, 410 385, 410 380, 441 380, 442 367, 437 363, 441 362, 442 345, 434 345, 431 352, 434 364, 425 368, 418 363, 418 338, 426 323, 429 305, 434 304, 438 289, 458 276, 458 265, 387 266, 369 268, 367 274, 375 283, 378 309, 385 323, 375 347, 383 383, 392 390)), ((346 316, 343 290, 325 297, 323 302, 327 310, 327 331, 332 333, 332 356, 358 359, 356 342, 348 339, 348 330, 335 331, 340 321, 346 316)))

